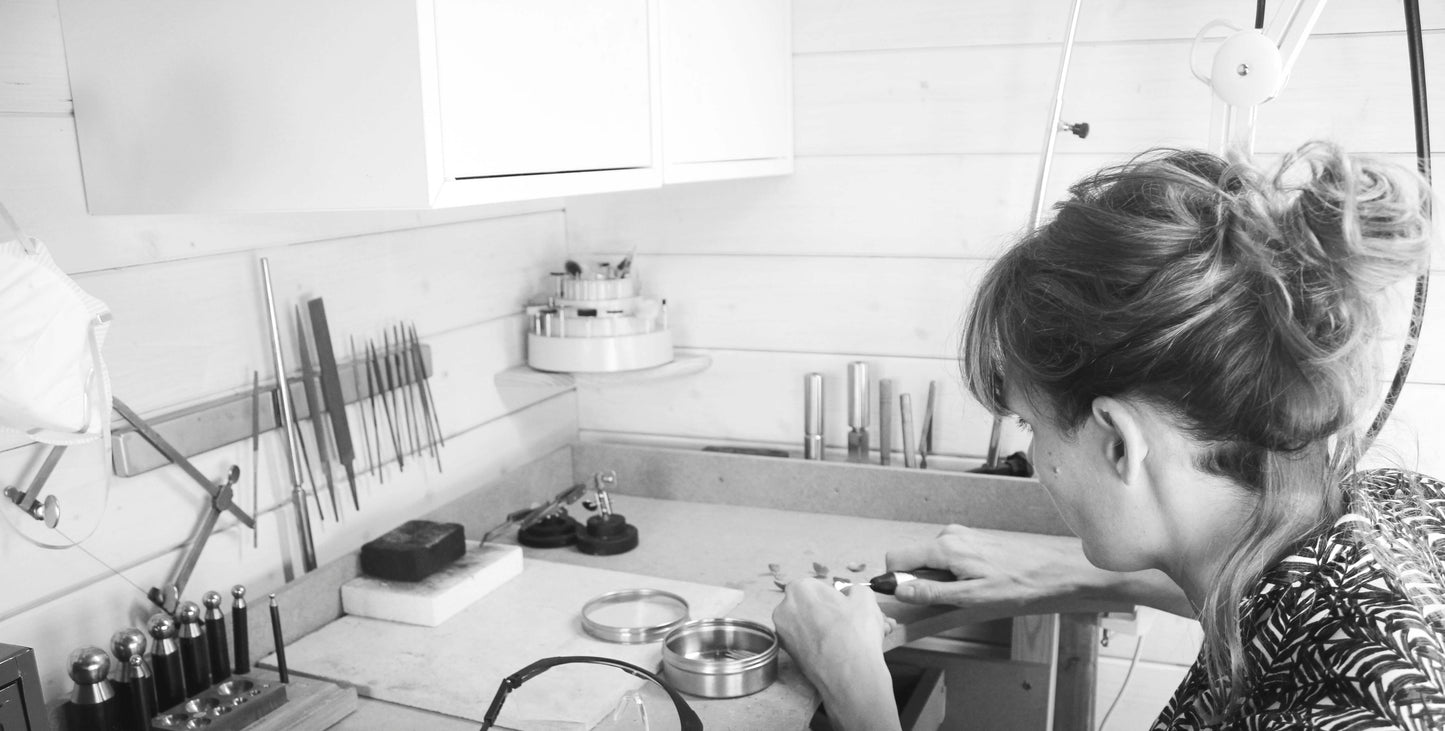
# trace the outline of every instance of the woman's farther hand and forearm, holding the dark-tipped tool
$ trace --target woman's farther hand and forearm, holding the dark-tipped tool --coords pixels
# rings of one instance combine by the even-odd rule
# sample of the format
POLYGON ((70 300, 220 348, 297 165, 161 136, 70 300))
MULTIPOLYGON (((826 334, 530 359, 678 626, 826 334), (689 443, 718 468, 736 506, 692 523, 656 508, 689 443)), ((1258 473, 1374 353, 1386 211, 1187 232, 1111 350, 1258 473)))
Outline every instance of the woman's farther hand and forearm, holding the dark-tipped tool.
POLYGON ((1134 604, 1191 615, 1189 602, 1159 571, 1117 574, 1084 558, 1077 537, 948 526, 925 543, 892 550, 889 571, 946 569, 958 581, 899 585, 910 604, 952 604, 978 620, 1069 611, 1118 611, 1134 604))

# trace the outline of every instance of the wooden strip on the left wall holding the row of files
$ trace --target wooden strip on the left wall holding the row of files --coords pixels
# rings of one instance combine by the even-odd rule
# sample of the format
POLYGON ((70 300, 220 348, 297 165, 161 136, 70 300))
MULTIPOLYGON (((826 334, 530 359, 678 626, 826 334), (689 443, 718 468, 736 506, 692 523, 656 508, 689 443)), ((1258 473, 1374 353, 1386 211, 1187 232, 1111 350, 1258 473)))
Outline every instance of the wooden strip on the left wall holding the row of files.
MULTIPOLYGON (((435 368, 432 367, 432 348, 431 345, 422 344, 420 350, 422 373, 419 377, 429 379, 435 373, 435 368)), ((386 357, 387 352, 396 354, 397 351, 405 352, 400 348, 392 348, 390 351, 377 350, 377 355, 386 357)), ((341 381, 341 400, 348 405, 367 399, 364 370, 367 363, 368 361, 363 358, 360 361, 337 364, 337 374, 341 381), (358 383, 360 390, 357 389, 358 383)), ((399 386, 409 386, 412 383, 410 380, 406 380, 406 373, 397 373, 394 376, 400 381, 399 386)), ((290 389, 290 403, 296 410, 296 419, 309 419, 312 415, 306 407, 306 396, 301 384, 301 374, 296 373, 288 376, 286 386, 290 389)), ((384 389, 377 390, 377 396, 383 393, 386 393, 384 389)), ((279 429, 280 423, 276 422, 276 415, 280 409, 276 407, 275 384, 262 389, 260 402, 262 433, 279 429)), ((155 428, 160 436, 181 451, 182 455, 194 457, 202 452, 210 452, 211 449, 251 438, 251 392, 247 387, 244 393, 225 396, 176 412, 147 418, 146 420, 150 422, 150 426, 155 428)), ((146 439, 130 425, 117 426, 111 432, 110 439, 113 470, 118 477, 134 477, 171 464, 165 455, 158 452, 155 446, 150 446, 150 442, 146 442, 146 439)))

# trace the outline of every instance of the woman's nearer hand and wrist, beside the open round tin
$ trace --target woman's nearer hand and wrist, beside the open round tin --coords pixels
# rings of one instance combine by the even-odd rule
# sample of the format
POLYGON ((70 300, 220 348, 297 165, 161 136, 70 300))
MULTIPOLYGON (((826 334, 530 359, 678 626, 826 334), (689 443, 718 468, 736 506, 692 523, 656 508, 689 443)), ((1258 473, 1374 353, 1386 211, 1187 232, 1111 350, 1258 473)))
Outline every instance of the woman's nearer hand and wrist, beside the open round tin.
POLYGON ((773 611, 777 637, 822 696, 838 730, 899 728, 893 682, 883 662, 883 615, 866 587, 842 594, 828 581, 795 579, 773 611))

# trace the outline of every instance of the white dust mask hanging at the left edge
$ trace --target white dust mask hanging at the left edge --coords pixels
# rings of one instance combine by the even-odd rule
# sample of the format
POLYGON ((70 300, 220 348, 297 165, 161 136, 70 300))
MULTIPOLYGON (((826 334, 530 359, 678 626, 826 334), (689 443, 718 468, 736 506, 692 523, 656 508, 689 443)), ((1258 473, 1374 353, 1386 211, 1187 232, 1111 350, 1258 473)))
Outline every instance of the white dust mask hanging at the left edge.
POLYGON ((110 309, 0 208, 0 428, 52 445, 98 439, 110 425, 107 329, 110 309))

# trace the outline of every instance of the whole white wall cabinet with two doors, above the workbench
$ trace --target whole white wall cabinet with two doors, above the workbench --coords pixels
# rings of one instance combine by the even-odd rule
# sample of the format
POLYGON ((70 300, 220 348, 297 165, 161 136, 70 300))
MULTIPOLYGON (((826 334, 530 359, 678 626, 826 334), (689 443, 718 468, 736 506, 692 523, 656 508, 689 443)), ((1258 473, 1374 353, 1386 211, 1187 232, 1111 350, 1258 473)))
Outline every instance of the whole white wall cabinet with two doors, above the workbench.
POLYGON ((92 214, 444 208, 652 188, 673 168, 788 172, 789 13, 61 0, 92 214))

